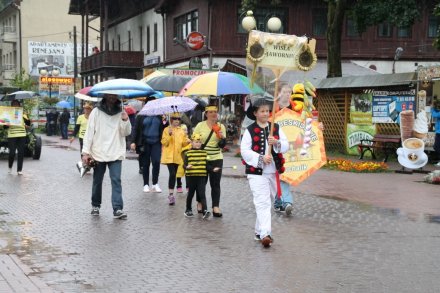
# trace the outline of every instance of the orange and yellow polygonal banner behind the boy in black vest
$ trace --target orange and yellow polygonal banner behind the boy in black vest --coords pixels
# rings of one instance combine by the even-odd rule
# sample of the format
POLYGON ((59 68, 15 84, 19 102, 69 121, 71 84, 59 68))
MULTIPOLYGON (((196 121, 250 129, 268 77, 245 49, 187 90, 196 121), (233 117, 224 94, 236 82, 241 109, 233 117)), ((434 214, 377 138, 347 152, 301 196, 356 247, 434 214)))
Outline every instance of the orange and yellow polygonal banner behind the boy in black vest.
POLYGON ((322 131, 318 128, 318 121, 304 121, 301 114, 288 108, 275 114, 275 123, 289 141, 289 150, 284 154, 285 172, 281 174, 281 179, 296 186, 327 161, 322 131))

